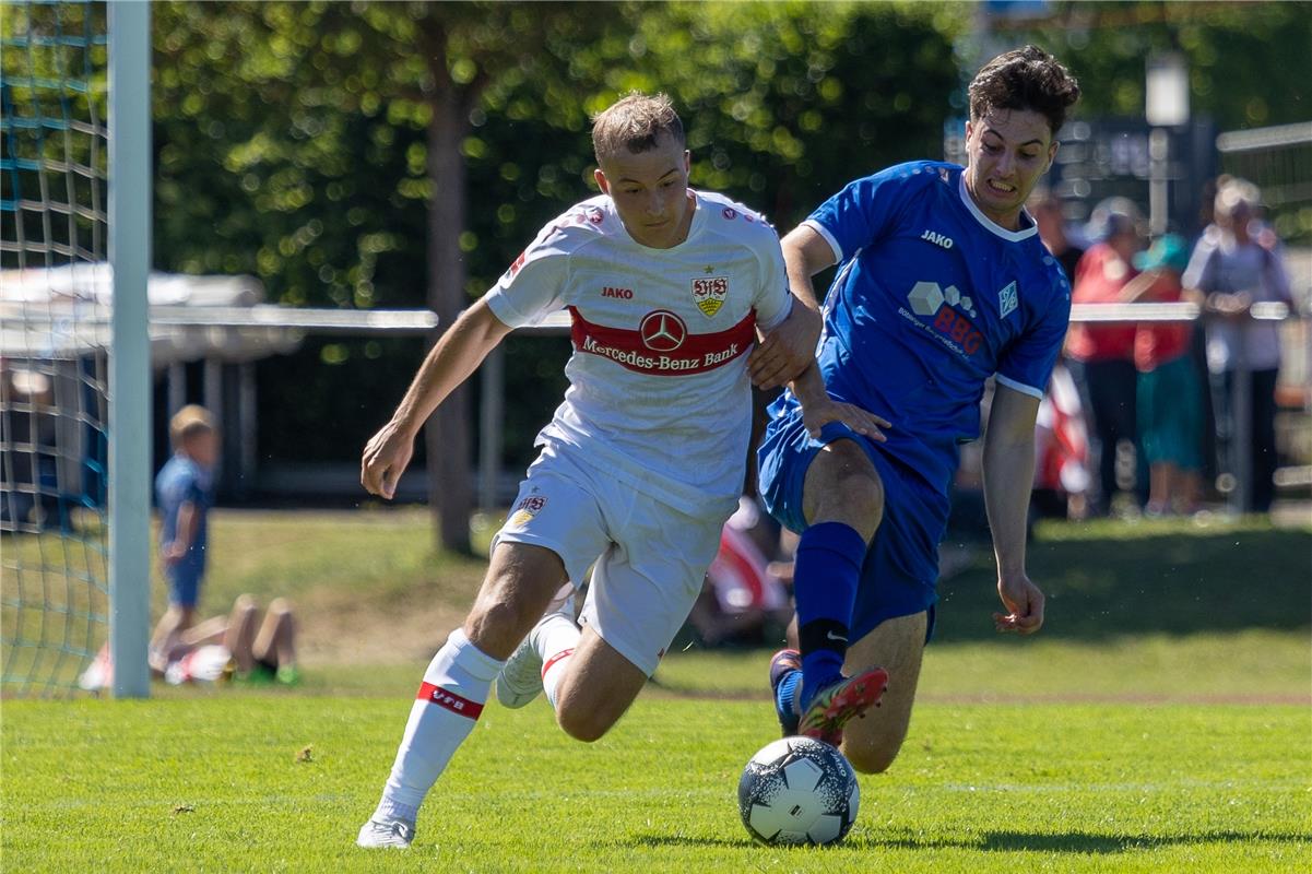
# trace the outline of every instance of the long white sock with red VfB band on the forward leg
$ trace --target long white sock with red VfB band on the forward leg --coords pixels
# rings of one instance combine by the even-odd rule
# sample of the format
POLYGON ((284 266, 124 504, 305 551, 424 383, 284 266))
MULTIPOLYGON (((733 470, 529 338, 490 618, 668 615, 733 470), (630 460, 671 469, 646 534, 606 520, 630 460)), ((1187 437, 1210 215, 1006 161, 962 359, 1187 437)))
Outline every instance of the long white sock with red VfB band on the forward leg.
POLYGON ((424 672, 377 819, 415 822, 424 795, 474 730, 502 664, 470 643, 462 629, 451 631, 424 672))

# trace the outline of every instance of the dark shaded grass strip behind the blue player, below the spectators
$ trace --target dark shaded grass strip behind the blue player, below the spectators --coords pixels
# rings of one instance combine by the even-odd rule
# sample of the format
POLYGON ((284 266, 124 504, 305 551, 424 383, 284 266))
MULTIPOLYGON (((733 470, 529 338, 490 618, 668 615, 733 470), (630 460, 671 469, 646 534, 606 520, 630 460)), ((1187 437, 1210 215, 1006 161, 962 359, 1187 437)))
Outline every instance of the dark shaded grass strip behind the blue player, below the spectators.
MULTIPOLYGON (((1240 528, 1036 539, 1031 579, 1047 596, 1043 638, 1296 630, 1312 625, 1312 533, 1240 528)), ((993 559, 939 583, 938 640, 994 639, 993 559)))

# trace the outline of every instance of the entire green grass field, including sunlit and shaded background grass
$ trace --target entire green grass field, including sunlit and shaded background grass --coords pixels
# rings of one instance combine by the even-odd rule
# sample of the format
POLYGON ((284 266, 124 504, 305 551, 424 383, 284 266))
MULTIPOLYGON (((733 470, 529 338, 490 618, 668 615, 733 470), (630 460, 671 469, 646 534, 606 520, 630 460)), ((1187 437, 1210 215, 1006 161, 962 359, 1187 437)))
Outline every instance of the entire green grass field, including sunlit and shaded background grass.
POLYGON ((942 587, 911 738, 861 778, 838 848, 748 840, 735 787, 774 736, 769 650, 694 646, 597 744, 541 701, 489 706, 413 850, 378 856, 354 832, 482 568, 432 555, 421 514, 365 520, 215 517, 207 605, 290 593, 298 689, 5 699, 0 870, 1312 869, 1305 524, 1044 525, 1031 572, 1048 623, 1027 640, 993 635, 981 554, 942 587))

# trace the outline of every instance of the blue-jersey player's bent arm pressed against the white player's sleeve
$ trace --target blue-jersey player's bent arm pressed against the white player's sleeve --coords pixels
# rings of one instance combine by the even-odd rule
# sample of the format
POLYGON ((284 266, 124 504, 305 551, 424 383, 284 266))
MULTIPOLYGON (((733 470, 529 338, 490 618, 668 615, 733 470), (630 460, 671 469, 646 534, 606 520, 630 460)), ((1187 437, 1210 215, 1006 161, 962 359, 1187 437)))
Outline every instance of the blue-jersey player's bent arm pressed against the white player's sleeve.
POLYGON ((790 231, 781 245, 789 290, 794 297, 792 312, 783 324, 765 335, 747 360, 753 385, 764 390, 796 379, 813 361, 821 319, 811 277, 834 261, 829 243, 806 224, 790 231))

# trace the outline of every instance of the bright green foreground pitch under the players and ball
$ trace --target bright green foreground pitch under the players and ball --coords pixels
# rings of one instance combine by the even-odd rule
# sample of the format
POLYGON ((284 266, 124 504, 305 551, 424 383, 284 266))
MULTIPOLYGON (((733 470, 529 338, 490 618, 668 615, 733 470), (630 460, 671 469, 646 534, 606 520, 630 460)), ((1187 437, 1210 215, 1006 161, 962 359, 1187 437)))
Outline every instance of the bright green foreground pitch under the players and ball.
POLYGON ((1304 871, 1300 705, 926 703, 861 777, 848 840, 750 843, 735 787, 764 702, 643 697, 579 744, 489 706, 411 853, 352 841, 409 702, 211 694, 9 702, 12 871, 1304 871))

